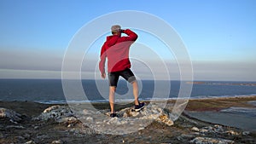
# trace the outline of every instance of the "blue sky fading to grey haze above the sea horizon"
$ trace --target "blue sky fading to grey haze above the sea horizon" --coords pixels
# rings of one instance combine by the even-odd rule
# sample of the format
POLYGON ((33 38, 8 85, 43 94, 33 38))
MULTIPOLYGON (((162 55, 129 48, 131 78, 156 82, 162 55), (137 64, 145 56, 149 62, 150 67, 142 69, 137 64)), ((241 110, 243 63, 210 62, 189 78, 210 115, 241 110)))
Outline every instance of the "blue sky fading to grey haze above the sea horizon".
MULTIPOLYGON (((105 14, 135 10, 153 14, 172 26, 186 46, 195 80, 256 81, 255 9, 254 0, 1 0, 0 78, 61 78, 64 55, 81 27, 105 14)), ((164 61, 170 77, 180 78, 175 56, 160 50, 165 45, 146 32, 132 30, 139 38, 131 53, 147 57, 149 52, 142 49, 148 46, 164 61)), ((84 59, 99 60, 107 35, 110 32, 96 39, 84 59)), ((131 62, 140 78, 152 78, 136 57, 131 62)), ((98 72, 95 65, 88 68, 84 63, 83 78, 100 78, 93 74, 98 72)), ((148 63, 155 70, 160 60, 150 57, 148 63)))

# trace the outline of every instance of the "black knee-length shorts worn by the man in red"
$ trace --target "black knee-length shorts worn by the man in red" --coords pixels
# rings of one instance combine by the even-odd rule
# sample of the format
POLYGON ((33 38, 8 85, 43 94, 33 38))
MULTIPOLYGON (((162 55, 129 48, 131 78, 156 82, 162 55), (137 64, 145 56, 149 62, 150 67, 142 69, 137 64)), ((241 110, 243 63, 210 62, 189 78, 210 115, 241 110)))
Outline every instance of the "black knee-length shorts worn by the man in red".
POLYGON ((109 86, 117 87, 119 76, 125 78, 126 81, 129 83, 132 83, 136 80, 133 72, 129 68, 119 71, 119 72, 109 72, 108 73, 108 80, 109 80, 109 86))

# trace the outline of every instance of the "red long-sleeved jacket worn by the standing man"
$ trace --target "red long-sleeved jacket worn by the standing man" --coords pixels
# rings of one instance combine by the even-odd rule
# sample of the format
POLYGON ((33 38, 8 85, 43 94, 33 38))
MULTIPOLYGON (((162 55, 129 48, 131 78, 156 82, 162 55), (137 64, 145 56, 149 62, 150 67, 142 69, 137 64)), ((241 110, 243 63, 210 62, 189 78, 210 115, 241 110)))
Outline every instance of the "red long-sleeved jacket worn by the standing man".
POLYGON ((117 35, 108 36, 106 42, 102 45, 101 60, 99 68, 105 73, 105 61, 108 57, 108 72, 118 72, 131 68, 129 60, 129 49, 131 43, 136 41, 137 34, 129 29, 124 33, 127 37, 119 37, 117 35))

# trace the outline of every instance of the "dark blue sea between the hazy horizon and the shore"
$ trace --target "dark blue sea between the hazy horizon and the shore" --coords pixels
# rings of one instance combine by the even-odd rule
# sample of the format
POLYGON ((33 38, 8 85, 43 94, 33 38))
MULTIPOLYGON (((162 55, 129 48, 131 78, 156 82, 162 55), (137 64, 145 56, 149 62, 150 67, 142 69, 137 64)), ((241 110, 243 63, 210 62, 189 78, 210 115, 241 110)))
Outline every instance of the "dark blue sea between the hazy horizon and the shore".
MULTIPOLYGON (((83 94, 68 93, 67 95, 63 90, 65 84, 62 85, 61 79, 0 79, 0 101, 36 101, 47 104, 60 104, 67 101, 108 101, 108 80, 84 79, 79 80, 79 84, 82 85, 81 88, 73 86, 73 91, 79 89, 84 92, 83 94)), ((192 84, 191 93, 187 95, 190 99, 256 95, 256 82, 162 81, 161 83, 161 81, 142 80, 138 84, 140 100, 177 99, 181 92, 181 84, 192 84), (168 87, 160 84, 167 84, 168 87), (165 89, 160 89, 161 87, 165 89)), ((68 89, 67 85, 65 89, 68 89)), ((116 100, 133 101, 131 84, 127 84, 125 80, 119 80, 116 100)))

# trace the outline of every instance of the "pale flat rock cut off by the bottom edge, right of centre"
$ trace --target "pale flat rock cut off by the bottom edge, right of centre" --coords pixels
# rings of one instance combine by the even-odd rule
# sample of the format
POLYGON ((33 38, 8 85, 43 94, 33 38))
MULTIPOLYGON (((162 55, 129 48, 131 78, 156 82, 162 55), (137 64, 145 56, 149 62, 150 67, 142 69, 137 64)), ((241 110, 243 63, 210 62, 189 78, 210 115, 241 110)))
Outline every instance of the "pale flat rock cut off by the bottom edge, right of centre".
POLYGON ((235 141, 220 139, 220 138, 211 138, 211 137, 195 137, 195 139, 190 141, 195 144, 233 144, 235 141))

